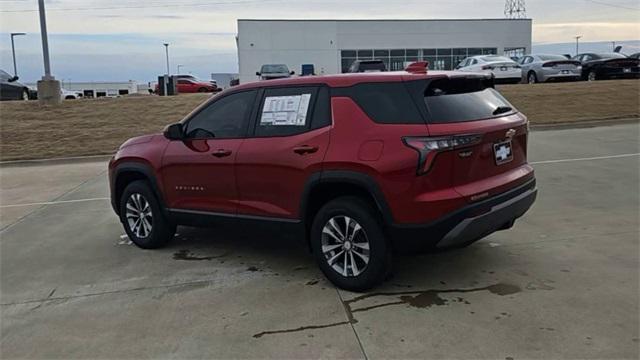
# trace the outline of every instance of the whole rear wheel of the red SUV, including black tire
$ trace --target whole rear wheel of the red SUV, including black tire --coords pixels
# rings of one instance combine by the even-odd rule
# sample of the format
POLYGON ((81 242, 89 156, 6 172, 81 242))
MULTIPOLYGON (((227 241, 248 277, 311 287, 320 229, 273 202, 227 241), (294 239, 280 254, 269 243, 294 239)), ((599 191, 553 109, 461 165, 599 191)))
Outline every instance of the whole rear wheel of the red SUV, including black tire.
POLYGON ((311 248, 320 270, 337 287, 364 291, 380 284, 391 270, 391 247, 379 218, 357 197, 332 200, 316 214, 311 248))

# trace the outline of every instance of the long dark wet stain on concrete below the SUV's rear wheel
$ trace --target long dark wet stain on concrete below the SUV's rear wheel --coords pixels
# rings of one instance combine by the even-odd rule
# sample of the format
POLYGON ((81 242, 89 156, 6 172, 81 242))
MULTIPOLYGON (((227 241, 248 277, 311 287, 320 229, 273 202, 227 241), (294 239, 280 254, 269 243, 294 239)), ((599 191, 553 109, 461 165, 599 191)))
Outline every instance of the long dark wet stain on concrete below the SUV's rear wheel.
MULTIPOLYGON (((308 325, 308 326, 300 326, 293 329, 282 329, 282 330, 270 330, 270 331, 262 331, 257 334, 254 334, 254 338, 261 338, 264 335, 273 335, 273 334, 283 334, 283 333, 292 333, 310 329, 324 329, 333 326, 347 325, 347 324, 356 324, 358 320, 354 317, 354 313, 365 312, 381 307, 393 306, 393 305, 409 305, 414 308, 426 309, 432 306, 443 306, 449 303, 448 299, 444 299, 440 297, 440 294, 446 293, 471 293, 471 292, 479 292, 479 291, 488 291, 491 294, 506 296, 512 295, 522 291, 519 286, 512 284, 504 284, 498 283, 489 286, 469 288, 469 289, 430 289, 430 290, 407 290, 407 291, 393 291, 393 292, 376 292, 369 293, 357 296, 351 300, 342 301, 342 305, 344 306, 345 312, 347 314, 347 321, 340 321, 330 324, 324 325, 308 325), (395 297, 393 301, 365 306, 365 307, 354 307, 354 304, 363 301, 365 299, 370 299, 374 297, 395 297)), ((468 301, 464 300, 461 297, 457 297, 453 300, 454 302, 463 302, 465 304, 469 304, 468 301)))

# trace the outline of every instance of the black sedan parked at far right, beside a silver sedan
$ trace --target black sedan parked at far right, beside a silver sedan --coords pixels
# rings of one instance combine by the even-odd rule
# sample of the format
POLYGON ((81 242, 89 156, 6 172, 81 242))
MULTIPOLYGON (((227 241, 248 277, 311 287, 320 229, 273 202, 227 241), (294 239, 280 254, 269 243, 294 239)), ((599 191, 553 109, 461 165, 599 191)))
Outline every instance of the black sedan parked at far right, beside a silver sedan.
POLYGON ((585 53, 573 57, 582 63, 582 79, 640 78, 640 60, 619 53, 585 53))

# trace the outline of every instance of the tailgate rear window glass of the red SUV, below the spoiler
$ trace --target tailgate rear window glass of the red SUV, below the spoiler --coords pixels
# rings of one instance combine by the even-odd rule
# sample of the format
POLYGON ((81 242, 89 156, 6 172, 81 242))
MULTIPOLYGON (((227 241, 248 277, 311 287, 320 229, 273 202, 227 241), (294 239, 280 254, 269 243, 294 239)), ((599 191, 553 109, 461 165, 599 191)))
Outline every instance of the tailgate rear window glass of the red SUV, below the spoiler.
POLYGON ((424 101, 430 123, 482 120, 516 111, 484 78, 434 80, 425 90, 424 101))

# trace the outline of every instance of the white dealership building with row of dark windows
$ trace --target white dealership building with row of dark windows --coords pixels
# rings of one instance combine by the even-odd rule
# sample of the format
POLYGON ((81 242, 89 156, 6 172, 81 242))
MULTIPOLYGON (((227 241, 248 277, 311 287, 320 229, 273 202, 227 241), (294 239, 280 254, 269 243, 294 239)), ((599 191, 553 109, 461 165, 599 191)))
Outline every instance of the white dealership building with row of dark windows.
POLYGON ((531 19, 238 20, 240 82, 258 80, 263 64, 299 74, 346 72, 355 60, 379 59, 389 70, 429 61, 451 70, 467 56, 520 56, 531 51, 531 19))

